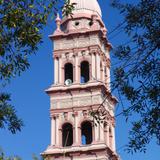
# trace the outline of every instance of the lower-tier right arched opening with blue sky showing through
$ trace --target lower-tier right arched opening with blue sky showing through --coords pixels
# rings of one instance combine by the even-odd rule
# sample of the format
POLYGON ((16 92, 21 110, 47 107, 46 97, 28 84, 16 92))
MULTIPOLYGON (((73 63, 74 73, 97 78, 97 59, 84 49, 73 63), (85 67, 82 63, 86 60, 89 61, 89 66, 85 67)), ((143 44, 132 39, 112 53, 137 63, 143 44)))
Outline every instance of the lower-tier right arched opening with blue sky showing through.
POLYGON ((92 124, 88 121, 81 125, 81 142, 83 145, 92 143, 92 124))

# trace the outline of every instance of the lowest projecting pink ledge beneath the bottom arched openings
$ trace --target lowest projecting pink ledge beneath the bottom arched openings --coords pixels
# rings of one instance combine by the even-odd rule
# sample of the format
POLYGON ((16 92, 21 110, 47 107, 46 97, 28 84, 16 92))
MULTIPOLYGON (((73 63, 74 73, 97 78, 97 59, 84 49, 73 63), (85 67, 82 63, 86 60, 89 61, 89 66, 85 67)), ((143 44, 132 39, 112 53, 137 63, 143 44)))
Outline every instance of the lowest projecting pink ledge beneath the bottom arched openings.
POLYGON ((106 144, 87 146, 56 147, 49 146, 41 154, 47 160, 120 160, 118 155, 106 144))

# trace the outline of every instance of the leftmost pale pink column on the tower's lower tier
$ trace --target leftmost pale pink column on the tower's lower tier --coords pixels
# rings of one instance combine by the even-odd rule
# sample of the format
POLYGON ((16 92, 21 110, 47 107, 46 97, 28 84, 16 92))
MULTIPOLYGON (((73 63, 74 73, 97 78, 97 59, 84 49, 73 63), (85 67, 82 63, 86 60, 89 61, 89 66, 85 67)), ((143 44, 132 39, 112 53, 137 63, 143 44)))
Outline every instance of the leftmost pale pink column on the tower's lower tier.
POLYGON ((55 118, 51 117, 51 146, 55 146, 55 143, 56 143, 55 118))

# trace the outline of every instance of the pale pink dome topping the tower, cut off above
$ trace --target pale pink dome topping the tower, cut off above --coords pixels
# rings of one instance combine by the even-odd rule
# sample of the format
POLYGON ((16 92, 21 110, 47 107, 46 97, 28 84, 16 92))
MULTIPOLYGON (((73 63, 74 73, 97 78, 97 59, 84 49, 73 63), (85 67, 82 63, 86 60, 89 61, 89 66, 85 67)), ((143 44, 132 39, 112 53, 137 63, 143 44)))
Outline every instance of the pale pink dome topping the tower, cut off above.
POLYGON ((73 11, 74 14, 97 14, 102 17, 102 12, 97 0, 70 0, 70 3, 76 3, 73 11))

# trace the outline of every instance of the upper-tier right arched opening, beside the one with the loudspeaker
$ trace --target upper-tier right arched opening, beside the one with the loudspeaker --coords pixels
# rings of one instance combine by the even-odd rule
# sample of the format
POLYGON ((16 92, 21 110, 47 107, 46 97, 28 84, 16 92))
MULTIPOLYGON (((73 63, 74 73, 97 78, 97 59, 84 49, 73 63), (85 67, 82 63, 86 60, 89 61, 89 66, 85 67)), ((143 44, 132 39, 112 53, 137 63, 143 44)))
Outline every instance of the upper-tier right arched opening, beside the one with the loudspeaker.
POLYGON ((89 63, 87 61, 83 61, 81 63, 81 83, 86 83, 89 81, 89 63))

